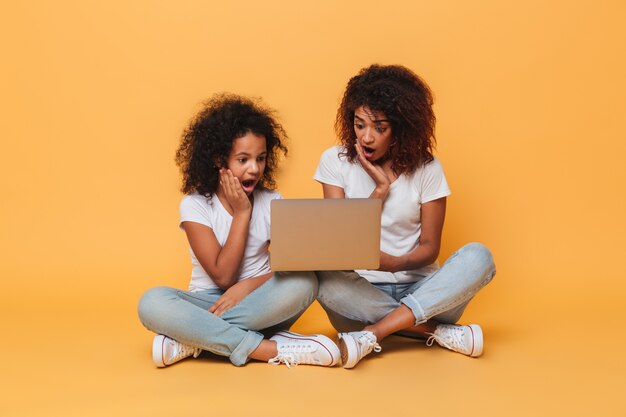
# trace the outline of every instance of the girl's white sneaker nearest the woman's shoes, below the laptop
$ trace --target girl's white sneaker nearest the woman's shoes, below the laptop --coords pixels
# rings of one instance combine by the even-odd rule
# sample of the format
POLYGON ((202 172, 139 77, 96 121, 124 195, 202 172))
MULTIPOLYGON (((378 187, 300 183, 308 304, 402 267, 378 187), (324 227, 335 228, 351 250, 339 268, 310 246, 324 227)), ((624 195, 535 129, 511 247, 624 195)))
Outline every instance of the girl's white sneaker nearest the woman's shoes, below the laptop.
POLYGON ((270 338, 276 342, 278 355, 267 361, 273 365, 335 366, 339 361, 339 348, 328 337, 315 334, 305 336, 293 332, 278 332, 270 338))

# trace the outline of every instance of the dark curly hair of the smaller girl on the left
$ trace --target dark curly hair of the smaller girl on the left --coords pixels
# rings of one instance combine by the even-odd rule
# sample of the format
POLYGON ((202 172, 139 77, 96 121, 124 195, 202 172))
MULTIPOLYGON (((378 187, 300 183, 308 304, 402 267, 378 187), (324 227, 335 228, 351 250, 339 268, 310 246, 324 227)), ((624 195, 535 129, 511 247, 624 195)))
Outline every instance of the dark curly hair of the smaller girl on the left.
POLYGON ((262 188, 274 189, 277 163, 287 154, 287 134, 275 112, 259 100, 222 93, 211 97, 185 129, 176 151, 183 175, 181 191, 210 198, 219 185, 219 169, 226 165, 233 141, 248 133, 263 136, 267 147, 262 188))

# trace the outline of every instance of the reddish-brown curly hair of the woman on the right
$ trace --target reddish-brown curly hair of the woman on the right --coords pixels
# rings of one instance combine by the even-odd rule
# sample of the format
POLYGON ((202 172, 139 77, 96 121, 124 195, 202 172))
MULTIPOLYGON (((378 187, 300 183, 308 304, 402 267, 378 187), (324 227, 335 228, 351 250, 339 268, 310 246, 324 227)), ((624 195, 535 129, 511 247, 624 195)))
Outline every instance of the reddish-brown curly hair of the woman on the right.
POLYGON ((364 106, 389 120, 393 171, 397 175, 414 172, 433 160, 436 119, 432 105, 430 88, 410 69, 376 64, 361 69, 348 82, 335 120, 344 155, 351 162, 357 159, 354 111, 364 106))

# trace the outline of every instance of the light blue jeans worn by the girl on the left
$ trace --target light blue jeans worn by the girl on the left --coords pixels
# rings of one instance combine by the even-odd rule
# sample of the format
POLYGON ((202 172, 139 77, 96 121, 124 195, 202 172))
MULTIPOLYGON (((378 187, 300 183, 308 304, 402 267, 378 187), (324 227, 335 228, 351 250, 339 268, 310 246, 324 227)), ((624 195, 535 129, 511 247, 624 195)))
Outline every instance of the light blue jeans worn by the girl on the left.
POLYGON ((276 273, 218 317, 208 309, 223 293, 152 288, 139 300, 139 319, 148 330, 241 366, 264 335, 288 329, 304 313, 317 295, 317 279, 312 272, 276 273))

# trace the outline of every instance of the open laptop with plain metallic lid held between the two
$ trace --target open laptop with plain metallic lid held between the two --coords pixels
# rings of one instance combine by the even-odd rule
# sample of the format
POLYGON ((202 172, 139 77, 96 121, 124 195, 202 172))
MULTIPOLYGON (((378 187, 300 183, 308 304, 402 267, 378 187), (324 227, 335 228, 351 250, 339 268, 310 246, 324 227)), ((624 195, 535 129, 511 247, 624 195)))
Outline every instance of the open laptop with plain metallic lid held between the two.
POLYGON ((372 198, 272 200, 272 271, 377 269, 381 209, 372 198))

